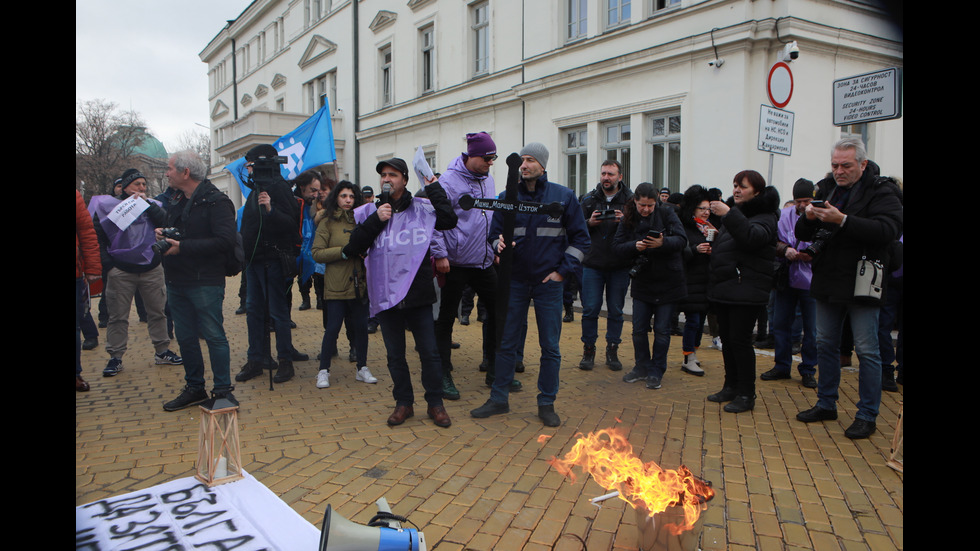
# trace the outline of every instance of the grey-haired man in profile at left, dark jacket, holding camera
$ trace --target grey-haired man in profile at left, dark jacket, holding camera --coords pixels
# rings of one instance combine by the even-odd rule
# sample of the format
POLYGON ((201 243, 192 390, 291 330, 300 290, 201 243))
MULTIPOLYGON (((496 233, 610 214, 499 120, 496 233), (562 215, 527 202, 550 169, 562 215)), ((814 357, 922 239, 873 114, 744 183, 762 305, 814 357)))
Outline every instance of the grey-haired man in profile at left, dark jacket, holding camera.
POLYGON ((162 242, 170 313, 184 359, 186 385, 163 409, 176 411, 207 400, 200 338, 208 345, 214 375, 212 397, 235 401, 222 314, 226 266, 236 246, 235 206, 207 179, 207 167, 196 153, 175 153, 166 175, 176 190, 167 211, 168 226, 179 236, 166 236, 158 229, 157 238, 162 242))

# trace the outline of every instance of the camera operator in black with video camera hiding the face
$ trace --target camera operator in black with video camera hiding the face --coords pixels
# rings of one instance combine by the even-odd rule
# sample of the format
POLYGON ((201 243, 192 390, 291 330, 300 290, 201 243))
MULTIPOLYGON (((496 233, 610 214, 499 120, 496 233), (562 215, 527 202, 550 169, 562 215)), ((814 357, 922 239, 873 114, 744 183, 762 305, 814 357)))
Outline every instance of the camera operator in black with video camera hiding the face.
POLYGON ((299 203, 282 177, 279 152, 258 145, 245 154, 252 191, 242 210, 245 248, 245 320, 248 326, 248 361, 235 380, 244 382, 277 369, 282 383, 293 377, 293 344, 287 291, 295 275, 300 245, 299 203), (267 320, 276 333, 278 366, 272 359, 267 320))

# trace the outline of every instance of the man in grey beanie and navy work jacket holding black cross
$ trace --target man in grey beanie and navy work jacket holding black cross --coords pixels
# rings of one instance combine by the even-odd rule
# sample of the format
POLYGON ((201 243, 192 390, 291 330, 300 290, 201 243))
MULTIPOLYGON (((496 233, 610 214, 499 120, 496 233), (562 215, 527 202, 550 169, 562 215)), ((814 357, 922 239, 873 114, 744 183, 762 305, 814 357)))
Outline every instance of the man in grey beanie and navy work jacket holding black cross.
MULTIPOLYGON (((517 350, 523 349, 524 325, 531 301, 541 344, 541 370, 538 374, 538 417, 548 427, 561 424, 555 413, 558 394, 558 370, 561 350, 558 346, 562 326, 563 281, 575 275, 581 280, 582 258, 589 250, 589 230, 582 216, 575 193, 562 185, 548 181, 548 149, 540 143, 529 143, 521 149, 521 181, 517 186, 519 201, 534 203, 558 202, 562 214, 555 218, 541 214, 519 212, 514 226, 514 242, 504 243, 502 216, 494 216, 490 236, 494 250, 500 254, 505 247, 514 249, 514 265, 510 281, 510 301, 501 304, 507 309, 503 337, 497 350, 495 377, 490 399, 470 412, 484 418, 510 411, 508 397, 517 366, 517 350)), ((504 198, 506 192, 501 194, 504 198)))

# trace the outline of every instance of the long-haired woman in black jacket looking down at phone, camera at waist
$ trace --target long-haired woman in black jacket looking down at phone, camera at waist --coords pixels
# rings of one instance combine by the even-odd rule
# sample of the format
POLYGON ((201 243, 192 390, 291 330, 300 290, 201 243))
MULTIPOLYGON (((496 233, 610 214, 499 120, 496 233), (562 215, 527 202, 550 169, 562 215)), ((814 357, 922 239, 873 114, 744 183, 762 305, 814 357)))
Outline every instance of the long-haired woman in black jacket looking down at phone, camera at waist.
POLYGON ((674 304, 687 296, 683 251, 687 233, 674 208, 658 203, 653 184, 636 186, 633 200, 626 204, 623 221, 616 231, 613 252, 629 259, 632 268, 630 296, 633 297, 633 354, 636 366, 623 380, 646 379, 647 388, 660 388, 667 371, 670 326, 674 304), (650 320, 653 319, 653 349, 650 320))

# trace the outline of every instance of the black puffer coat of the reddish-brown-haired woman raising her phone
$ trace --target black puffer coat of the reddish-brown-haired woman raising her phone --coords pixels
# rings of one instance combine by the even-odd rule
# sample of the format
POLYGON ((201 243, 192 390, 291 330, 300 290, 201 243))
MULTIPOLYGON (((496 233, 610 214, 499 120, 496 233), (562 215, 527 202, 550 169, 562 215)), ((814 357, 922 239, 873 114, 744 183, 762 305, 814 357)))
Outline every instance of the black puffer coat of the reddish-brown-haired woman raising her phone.
POLYGON ((726 304, 764 305, 772 291, 779 192, 772 186, 732 205, 711 246, 708 300, 726 304))

